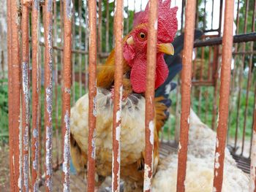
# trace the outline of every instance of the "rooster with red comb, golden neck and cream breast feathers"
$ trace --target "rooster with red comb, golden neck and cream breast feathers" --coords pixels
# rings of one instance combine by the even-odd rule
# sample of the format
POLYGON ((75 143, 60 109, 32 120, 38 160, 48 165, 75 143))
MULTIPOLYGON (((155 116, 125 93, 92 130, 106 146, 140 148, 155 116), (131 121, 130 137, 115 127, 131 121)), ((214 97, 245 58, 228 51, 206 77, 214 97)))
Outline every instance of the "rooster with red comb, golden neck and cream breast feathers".
MULTIPOLYGON (((181 70, 181 64, 168 66, 164 54, 173 55, 173 42, 177 31, 176 12, 178 7, 170 8, 170 0, 159 0, 157 32, 157 66, 155 88, 159 88, 168 78, 181 70), (174 71, 172 71, 175 69, 174 71), (169 72, 170 69, 170 72, 169 72)), ((123 98, 121 115, 121 179, 124 191, 142 191, 145 150, 145 97, 146 91, 146 53, 147 53, 148 5, 145 11, 135 15, 134 28, 123 39, 123 98)), ((111 174, 112 129, 113 129, 113 85, 115 73, 114 50, 97 74, 97 125, 96 125, 96 175, 97 185, 111 174)), ((170 92, 172 84, 168 84, 170 92)), ((168 93, 167 93, 168 94, 168 93)), ((167 120, 167 107, 170 101, 165 91, 154 100, 154 170, 159 161, 160 128, 167 120)), ((88 151, 89 96, 82 96, 71 110, 71 156, 78 174, 86 174, 88 151)))

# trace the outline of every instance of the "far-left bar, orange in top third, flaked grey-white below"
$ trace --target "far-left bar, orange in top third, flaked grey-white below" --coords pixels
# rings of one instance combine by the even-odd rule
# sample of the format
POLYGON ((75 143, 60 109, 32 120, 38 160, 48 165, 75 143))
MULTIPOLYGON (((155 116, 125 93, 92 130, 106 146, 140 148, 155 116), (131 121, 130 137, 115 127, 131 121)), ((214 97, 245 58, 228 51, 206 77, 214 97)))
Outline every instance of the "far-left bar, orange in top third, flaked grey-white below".
POLYGON ((29 191, 29 2, 22 4, 22 162, 23 191, 29 191))

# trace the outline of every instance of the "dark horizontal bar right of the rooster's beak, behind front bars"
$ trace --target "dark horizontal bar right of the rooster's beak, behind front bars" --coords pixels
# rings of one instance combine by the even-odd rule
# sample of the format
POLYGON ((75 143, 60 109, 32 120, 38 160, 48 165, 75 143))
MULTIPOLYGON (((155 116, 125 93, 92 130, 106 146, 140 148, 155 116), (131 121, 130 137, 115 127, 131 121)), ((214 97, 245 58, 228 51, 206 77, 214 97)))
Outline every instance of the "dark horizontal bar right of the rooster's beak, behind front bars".
MULTIPOLYGON (((248 34, 238 34, 233 36, 233 43, 238 42, 255 42, 256 41, 256 32, 248 33, 248 34)), ((216 37, 212 39, 208 39, 205 41, 195 42, 194 47, 206 47, 212 45, 221 45, 222 37, 216 37)))

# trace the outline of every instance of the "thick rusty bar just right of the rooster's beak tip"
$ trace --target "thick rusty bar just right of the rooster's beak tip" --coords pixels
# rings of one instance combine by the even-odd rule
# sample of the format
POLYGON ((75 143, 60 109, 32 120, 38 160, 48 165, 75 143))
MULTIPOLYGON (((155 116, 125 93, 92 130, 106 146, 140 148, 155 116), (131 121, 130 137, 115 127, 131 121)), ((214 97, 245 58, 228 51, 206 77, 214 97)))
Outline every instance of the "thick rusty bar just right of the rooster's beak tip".
POLYGON ((195 29, 195 0, 187 1, 185 12, 185 31, 184 31, 184 51, 183 51, 183 69, 181 72, 181 127, 178 150, 178 192, 184 192, 184 181, 186 178, 187 167, 187 143, 189 136, 189 114, 190 114, 190 88, 192 73, 192 52, 194 44, 195 29))

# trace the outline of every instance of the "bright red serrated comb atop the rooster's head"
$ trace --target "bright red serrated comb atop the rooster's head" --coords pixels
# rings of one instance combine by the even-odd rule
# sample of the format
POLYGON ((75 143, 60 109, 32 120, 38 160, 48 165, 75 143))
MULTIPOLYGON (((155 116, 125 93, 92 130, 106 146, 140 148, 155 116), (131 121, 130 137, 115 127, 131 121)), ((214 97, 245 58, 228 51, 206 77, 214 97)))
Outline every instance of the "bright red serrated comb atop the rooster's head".
MULTIPOLYGON (((158 31, 160 32, 158 39, 164 42, 173 42, 178 28, 176 18, 178 7, 170 8, 170 0, 159 0, 158 6, 158 31)), ((145 11, 135 13, 133 26, 138 26, 141 23, 148 23, 148 4, 145 11)))

